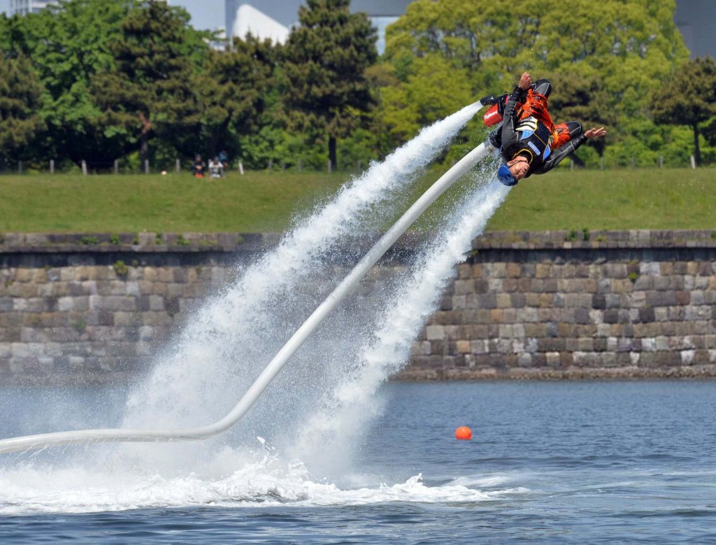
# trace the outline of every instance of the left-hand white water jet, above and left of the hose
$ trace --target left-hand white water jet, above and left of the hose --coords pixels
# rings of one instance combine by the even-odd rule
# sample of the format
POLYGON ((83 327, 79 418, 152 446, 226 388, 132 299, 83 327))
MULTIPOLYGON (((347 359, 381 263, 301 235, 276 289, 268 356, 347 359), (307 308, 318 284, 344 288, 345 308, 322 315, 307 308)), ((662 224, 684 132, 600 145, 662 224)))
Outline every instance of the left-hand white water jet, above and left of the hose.
POLYGON ((319 296, 318 273, 321 267, 327 273, 321 259, 346 237, 365 234, 367 216, 390 217, 390 206, 377 205, 410 183, 479 109, 479 103, 470 105, 423 129, 300 221, 276 249, 246 266, 158 357, 150 377, 130 395, 123 425, 199 425, 233 405, 286 331, 315 305, 306 289, 296 286, 318 279, 319 296))

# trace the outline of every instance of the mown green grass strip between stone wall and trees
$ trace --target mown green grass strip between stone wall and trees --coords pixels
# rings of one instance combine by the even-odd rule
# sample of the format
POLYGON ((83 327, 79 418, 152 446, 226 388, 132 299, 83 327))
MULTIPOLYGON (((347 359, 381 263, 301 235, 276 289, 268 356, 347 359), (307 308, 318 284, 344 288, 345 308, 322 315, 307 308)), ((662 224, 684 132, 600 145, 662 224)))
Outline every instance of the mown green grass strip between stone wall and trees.
MULTIPOLYGON (((439 173, 421 180, 427 187, 439 173)), ((345 173, 2 175, 0 232, 282 231, 345 173)), ((438 213, 439 215, 439 213, 438 213)), ((435 216, 435 212, 433 213, 435 216)), ((488 229, 716 228, 716 169, 560 168, 513 188, 488 229)))

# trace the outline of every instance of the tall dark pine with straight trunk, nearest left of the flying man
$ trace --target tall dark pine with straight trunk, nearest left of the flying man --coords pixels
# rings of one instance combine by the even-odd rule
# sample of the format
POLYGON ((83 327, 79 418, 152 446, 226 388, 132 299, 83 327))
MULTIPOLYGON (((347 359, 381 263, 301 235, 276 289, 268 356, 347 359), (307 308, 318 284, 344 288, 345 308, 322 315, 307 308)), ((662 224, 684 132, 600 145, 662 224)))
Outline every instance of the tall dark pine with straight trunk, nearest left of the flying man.
POLYGON ((285 46, 285 102, 291 124, 336 144, 362 125, 372 104, 365 75, 377 59, 376 33, 366 14, 349 12, 350 0, 307 0, 300 25, 285 46))

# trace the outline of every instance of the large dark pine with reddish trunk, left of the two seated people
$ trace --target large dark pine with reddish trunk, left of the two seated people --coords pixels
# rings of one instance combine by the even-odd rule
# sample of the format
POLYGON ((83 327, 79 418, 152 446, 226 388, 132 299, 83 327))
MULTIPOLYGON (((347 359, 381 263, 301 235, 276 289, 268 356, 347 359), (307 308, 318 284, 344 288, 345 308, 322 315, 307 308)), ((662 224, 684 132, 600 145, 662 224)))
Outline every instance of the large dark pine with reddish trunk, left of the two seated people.
POLYGON ((198 134, 200 107, 192 81, 208 46, 188 21, 186 11, 166 2, 135 2, 110 43, 116 69, 94 80, 104 119, 130 131, 142 164, 155 135, 185 151, 197 145, 192 135, 198 134))

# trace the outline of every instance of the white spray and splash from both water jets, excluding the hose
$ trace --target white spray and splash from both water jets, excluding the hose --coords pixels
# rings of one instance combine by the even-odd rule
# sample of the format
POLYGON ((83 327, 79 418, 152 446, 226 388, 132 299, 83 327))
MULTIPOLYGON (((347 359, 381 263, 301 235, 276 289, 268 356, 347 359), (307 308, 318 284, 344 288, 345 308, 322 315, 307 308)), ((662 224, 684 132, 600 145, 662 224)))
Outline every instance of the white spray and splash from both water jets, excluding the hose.
MULTIPOLYGON (((397 197, 477 110, 466 107, 422 130, 238 271, 231 286, 188 319, 130 392, 122 427, 186 428, 227 413, 347 273, 350 263, 337 267, 330 258, 352 241, 372 239, 376 224, 402 212, 395 208, 397 197)), ((487 161, 473 172, 464 200, 448 207, 440 230, 415 259, 395 274, 365 279, 227 433, 195 443, 72 447, 57 457, 40 455, 42 463, 14 458, 12 466, 0 465, 0 513, 3 506, 22 511, 29 503, 39 511, 82 512, 235 505, 263 502, 267 495, 320 504, 450 495, 417 477, 397 483, 395 491, 356 490, 356 446, 381 409, 380 385, 405 365, 455 265, 508 193, 487 183, 493 170, 487 161)), ((460 494, 483 498, 467 488, 460 494)))

